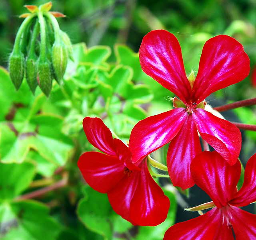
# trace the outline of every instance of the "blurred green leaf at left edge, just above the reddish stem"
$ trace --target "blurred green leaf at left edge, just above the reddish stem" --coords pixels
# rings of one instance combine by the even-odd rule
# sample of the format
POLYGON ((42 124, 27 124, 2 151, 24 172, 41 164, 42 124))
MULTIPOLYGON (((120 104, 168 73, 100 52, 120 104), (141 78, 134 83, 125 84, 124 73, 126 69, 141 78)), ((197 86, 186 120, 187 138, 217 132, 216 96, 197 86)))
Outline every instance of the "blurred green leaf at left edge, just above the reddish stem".
POLYGON ((0 163, 0 202, 17 197, 30 185, 34 175, 35 165, 30 162, 0 163))

